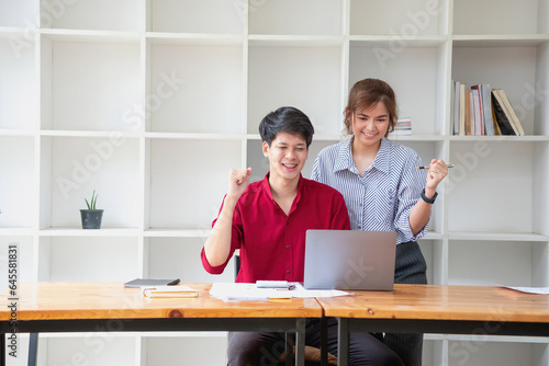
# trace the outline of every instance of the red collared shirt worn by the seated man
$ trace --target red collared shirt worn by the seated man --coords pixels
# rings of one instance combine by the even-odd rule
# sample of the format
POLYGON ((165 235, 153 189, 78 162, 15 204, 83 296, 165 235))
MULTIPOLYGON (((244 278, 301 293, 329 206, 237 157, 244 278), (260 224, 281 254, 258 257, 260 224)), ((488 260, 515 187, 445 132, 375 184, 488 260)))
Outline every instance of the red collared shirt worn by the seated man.
MULTIPOLYGON (((350 230, 345 201, 336 190, 300 176, 298 195, 287 216, 272 198, 268 178, 269 174, 262 181, 249 184, 238 199, 227 261, 220 266, 211 266, 202 249, 202 265, 209 273, 221 274, 234 251, 240 249, 240 272, 236 282, 302 282, 305 231, 350 230)), ((212 226, 214 224, 215 220, 212 226)))

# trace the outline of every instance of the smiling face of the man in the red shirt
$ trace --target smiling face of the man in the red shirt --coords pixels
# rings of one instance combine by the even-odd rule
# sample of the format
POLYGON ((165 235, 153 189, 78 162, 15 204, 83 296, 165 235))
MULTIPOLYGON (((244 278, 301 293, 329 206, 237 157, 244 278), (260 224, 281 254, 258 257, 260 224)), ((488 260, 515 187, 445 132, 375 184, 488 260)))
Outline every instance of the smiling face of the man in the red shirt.
POLYGON ((271 179, 299 180, 309 149, 302 135, 279 133, 270 146, 264 142, 264 155, 269 159, 271 179))

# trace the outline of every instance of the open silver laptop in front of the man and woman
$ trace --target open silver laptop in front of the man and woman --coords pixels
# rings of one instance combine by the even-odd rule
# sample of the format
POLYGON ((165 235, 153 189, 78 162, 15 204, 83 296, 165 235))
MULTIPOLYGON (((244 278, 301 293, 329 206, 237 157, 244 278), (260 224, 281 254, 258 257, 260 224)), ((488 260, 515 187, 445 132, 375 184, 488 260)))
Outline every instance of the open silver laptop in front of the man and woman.
POLYGON ((396 232, 307 230, 307 289, 392 290, 396 232))

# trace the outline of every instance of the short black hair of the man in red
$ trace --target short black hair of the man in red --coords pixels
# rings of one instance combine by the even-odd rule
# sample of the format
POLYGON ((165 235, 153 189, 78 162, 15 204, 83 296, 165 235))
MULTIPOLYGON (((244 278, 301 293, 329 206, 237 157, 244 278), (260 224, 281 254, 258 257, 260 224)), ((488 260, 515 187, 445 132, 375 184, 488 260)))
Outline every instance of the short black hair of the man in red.
POLYGON ((266 115, 259 124, 261 140, 269 146, 280 133, 303 136, 309 148, 313 141, 314 127, 306 114, 300 110, 293 106, 281 106, 266 115))

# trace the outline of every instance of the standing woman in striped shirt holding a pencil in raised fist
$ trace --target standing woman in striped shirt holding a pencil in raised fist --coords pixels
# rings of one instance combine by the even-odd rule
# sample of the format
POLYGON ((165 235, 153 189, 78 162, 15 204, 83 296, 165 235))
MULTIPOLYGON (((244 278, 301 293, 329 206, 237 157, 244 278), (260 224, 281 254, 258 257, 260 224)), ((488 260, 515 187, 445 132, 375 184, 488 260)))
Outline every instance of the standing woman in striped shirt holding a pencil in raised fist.
MULTIPOLYGON (((323 149, 312 179, 338 190, 352 230, 396 231, 395 283, 426 284, 426 263, 416 240, 425 236, 436 188, 448 174, 442 160, 423 167, 411 148, 386 136, 397 119, 392 88, 378 79, 358 81, 345 108, 348 138, 323 149)), ((422 364, 423 334, 385 334, 384 343, 406 366, 422 364)))

